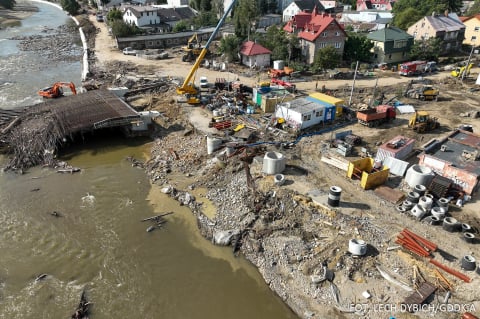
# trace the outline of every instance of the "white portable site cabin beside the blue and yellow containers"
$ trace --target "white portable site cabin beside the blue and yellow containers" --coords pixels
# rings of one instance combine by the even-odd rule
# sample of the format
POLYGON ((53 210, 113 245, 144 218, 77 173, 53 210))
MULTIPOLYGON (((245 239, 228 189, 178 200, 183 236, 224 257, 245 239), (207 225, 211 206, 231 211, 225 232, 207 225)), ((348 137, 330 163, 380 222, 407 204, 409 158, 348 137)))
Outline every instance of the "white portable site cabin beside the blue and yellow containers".
POLYGON ((287 125, 296 130, 302 130, 324 123, 326 113, 325 106, 306 98, 299 98, 278 104, 275 117, 283 118, 287 125))

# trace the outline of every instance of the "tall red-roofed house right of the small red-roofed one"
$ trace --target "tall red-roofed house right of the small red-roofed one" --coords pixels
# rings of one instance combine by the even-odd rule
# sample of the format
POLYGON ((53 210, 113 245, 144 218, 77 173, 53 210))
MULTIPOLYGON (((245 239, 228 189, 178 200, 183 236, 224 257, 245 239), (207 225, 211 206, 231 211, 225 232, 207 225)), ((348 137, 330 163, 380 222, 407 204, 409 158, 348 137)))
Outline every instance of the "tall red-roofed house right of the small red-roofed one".
POLYGON ((307 63, 312 64, 315 53, 327 46, 334 47, 340 56, 343 56, 347 34, 340 24, 329 14, 318 14, 315 10, 311 14, 302 31, 298 33, 302 55, 307 63))

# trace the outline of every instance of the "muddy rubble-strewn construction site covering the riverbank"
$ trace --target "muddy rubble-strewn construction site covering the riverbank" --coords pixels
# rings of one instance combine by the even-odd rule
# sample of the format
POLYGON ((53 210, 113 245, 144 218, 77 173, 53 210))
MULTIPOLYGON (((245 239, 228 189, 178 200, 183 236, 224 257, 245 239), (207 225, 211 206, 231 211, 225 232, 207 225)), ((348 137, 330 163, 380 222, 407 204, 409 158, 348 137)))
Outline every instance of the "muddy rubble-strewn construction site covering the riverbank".
MULTIPOLYGON (((188 58, 153 73, 155 61, 96 61, 85 87, 126 87, 107 104, 127 105, 128 124, 158 114, 150 158, 136 163, 191 208, 205 238, 245 256, 301 318, 480 315, 478 69, 336 80, 230 65, 228 79, 200 66, 209 43, 188 45, 178 49, 188 58)), ((59 100, 85 104, 82 94, 59 100)), ((22 115, 3 115, 0 138, 13 147, 22 115)), ((65 134, 53 131, 40 149, 65 134)), ((12 163, 45 159, 33 154, 18 160, 31 158, 18 149, 12 163)))

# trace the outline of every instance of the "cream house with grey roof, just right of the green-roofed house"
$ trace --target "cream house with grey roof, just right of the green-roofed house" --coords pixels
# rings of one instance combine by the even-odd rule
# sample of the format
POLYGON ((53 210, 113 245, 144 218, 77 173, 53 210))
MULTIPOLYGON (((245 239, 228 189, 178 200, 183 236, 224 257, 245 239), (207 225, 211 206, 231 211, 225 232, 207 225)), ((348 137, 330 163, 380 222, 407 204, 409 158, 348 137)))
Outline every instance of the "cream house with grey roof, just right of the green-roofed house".
POLYGON ((455 13, 432 13, 423 17, 407 30, 416 41, 438 38, 442 40, 442 54, 461 49, 465 38, 465 25, 455 13))

